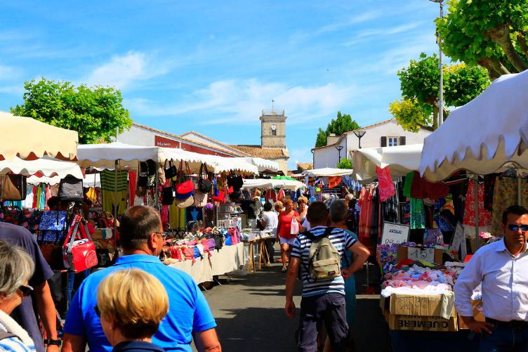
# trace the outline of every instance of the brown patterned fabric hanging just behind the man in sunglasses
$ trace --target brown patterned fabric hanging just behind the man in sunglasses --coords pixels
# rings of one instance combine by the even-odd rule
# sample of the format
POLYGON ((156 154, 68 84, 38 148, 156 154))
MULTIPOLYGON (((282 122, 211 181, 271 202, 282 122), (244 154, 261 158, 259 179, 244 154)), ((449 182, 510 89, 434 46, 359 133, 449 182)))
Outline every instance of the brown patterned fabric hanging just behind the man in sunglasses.
MULTIPOLYGON (((502 213, 510 205, 517 204, 517 178, 497 177, 493 193, 493 219, 491 220, 491 235, 502 236, 502 213)), ((528 204, 528 181, 521 180, 521 200, 524 206, 528 204)))

